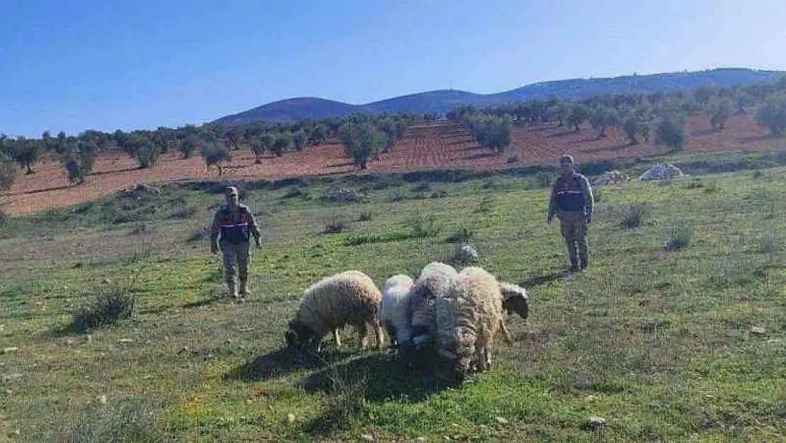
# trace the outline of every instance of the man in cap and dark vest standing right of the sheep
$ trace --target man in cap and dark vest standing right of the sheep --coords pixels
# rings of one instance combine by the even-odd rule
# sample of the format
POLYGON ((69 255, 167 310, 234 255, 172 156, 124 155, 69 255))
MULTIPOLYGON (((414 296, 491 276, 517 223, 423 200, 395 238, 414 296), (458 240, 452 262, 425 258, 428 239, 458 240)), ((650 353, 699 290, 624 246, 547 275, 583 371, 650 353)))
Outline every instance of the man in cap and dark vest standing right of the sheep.
POLYGON ((560 231, 571 257, 571 271, 587 267, 587 223, 592 221, 594 203, 589 180, 575 172, 573 157, 568 154, 560 157, 560 176, 551 187, 546 220, 551 222, 555 214, 560 219, 560 231))

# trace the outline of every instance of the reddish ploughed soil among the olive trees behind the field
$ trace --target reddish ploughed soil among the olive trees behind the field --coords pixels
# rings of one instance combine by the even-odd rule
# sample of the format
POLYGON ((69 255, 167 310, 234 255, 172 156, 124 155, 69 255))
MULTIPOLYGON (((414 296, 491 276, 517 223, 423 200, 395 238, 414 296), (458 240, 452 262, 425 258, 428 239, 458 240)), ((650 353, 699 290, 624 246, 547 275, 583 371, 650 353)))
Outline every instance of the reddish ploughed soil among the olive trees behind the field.
MULTIPOLYGON (((769 132, 758 127, 750 116, 733 116, 720 132, 711 131, 706 116, 688 120, 689 143, 685 151, 764 150, 773 144, 769 132)), ((571 153, 577 162, 618 157, 635 157, 656 153, 659 146, 642 143, 627 146, 618 129, 597 138, 597 131, 582 127, 574 132, 556 124, 520 124, 512 129, 512 142, 505 153, 490 153, 473 142, 457 125, 438 122, 411 127, 391 153, 369 162, 371 172, 405 171, 413 168, 509 168, 530 164, 554 164, 562 153, 571 153), (519 161, 508 163, 518 154, 519 161)), ((69 186, 64 168, 52 158, 33 168, 35 174, 20 175, 13 188, 0 194, 0 208, 8 213, 35 212, 50 207, 89 201, 101 194, 133 186, 174 179, 216 179, 215 169, 206 172, 201 157, 187 160, 179 153, 167 153, 153 168, 139 169, 134 161, 120 151, 97 154, 94 171, 85 183, 69 186)), ((254 164, 250 150, 233 151, 232 162, 224 168, 222 178, 276 179, 295 175, 320 175, 352 172, 354 167, 343 146, 329 143, 309 146, 301 152, 288 152, 283 157, 264 157, 263 164, 254 164)))

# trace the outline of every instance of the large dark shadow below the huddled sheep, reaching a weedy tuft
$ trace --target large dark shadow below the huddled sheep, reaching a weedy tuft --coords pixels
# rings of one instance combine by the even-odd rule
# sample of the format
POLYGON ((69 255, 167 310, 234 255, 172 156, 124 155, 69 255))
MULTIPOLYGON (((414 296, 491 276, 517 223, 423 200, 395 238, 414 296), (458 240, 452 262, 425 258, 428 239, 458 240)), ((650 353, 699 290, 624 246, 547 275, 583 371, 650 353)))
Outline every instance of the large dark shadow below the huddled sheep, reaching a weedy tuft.
POLYGON ((385 353, 372 353, 325 367, 303 378, 300 386, 320 393, 323 411, 303 424, 303 433, 325 437, 347 426, 351 419, 366 415, 370 403, 424 401, 457 382, 439 375, 435 364, 421 360, 410 367, 393 362, 385 353))

